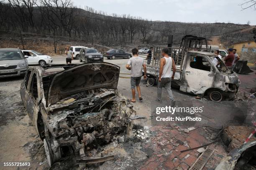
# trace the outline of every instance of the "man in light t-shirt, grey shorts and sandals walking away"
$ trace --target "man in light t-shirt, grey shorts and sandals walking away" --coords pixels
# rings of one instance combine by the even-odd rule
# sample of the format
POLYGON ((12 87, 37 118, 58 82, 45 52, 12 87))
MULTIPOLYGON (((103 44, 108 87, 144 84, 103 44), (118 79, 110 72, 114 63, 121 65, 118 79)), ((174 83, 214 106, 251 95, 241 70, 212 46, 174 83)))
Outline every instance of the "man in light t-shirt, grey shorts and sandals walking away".
POLYGON ((143 58, 138 56, 138 49, 133 48, 132 53, 133 53, 133 57, 131 57, 128 60, 128 63, 126 64, 125 67, 128 70, 131 70, 131 90, 132 90, 132 96, 133 96, 131 102, 136 102, 135 86, 138 91, 139 99, 142 100, 141 88, 139 86, 141 82, 141 76, 142 76, 142 67, 144 69, 144 79, 146 79, 147 70, 146 70, 146 64, 143 63, 144 62, 143 58))

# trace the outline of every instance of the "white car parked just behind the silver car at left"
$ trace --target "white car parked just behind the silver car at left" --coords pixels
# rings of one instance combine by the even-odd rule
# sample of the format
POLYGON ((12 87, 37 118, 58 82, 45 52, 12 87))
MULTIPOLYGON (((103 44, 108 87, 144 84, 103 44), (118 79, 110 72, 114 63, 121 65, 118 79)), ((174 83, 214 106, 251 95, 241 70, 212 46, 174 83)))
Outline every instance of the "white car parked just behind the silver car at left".
POLYGON ((24 56, 28 56, 28 65, 46 65, 52 62, 52 58, 49 55, 44 55, 33 50, 22 50, 24 56))

